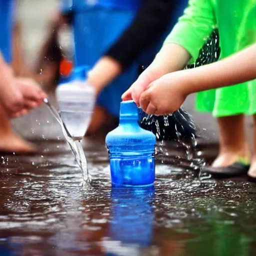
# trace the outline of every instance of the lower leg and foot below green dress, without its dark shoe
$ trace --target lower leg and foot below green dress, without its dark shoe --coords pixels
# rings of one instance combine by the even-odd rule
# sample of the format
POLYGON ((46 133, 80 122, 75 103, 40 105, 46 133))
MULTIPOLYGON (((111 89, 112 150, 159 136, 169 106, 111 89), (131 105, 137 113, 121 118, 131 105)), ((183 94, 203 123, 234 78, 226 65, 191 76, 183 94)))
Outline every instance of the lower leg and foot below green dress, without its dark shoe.
POLYGON ((250 152, 244 132, 244 116, 232 115, 217 118, 219 130, 219 153, 213 167, 233 164, 235 161, 249 163, 250 152))

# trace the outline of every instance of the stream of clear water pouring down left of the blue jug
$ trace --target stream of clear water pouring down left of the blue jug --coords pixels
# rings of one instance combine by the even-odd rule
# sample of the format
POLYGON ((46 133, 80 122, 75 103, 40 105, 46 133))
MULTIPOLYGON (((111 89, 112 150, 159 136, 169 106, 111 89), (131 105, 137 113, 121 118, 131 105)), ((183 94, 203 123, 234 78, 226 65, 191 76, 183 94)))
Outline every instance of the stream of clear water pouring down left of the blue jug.
POLYGON ((71 148, 71 151, 74 155, 74 158, 75 158, 78 166, 81 169, 83 184, 89 183, 91 180, 91 176, 88 172, 87 160, 86 160, 86 157, 85 157, 83 149, 82 149, 81 140, 73 140, 72 137, 69 135, 69 132, 66 129, 64 123, 62 122, 56 108, 53 105, 51 105, 50 102, 48 101, 48 99, 46 99, 46 98, 44 99, 44 103, 48 106, 50 112, 56 118, 56 120, 58 121, 58 123, 61 126, 63 135, 71 148))

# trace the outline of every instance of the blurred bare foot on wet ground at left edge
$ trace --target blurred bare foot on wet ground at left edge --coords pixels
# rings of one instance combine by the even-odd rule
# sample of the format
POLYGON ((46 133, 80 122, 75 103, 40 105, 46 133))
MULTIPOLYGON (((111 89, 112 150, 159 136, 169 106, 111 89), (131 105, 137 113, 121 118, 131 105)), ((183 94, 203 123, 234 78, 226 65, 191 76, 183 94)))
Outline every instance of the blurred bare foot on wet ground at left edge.
POLYGON ((14 131, 0 135, 0 151, 14 153, 32 153, 35 148, 14 131))

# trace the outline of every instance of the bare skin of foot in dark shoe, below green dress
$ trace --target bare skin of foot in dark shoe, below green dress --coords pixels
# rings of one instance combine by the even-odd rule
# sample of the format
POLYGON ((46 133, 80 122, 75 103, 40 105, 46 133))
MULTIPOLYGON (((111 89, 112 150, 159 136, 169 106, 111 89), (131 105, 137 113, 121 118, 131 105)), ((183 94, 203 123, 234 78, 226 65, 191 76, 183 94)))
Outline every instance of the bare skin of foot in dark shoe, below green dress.
MULTIPOLYGON (((233 164, 236 161, 248 164, 250 162, 250 151, 246 147, 240 151, 220 152, 217 158, 213 161, 212 167, 225 167, 233 164)), ((255 162, 256 163, 256 162, 255 162)), ((255 165, 256 167, 256 165, 255 165)))

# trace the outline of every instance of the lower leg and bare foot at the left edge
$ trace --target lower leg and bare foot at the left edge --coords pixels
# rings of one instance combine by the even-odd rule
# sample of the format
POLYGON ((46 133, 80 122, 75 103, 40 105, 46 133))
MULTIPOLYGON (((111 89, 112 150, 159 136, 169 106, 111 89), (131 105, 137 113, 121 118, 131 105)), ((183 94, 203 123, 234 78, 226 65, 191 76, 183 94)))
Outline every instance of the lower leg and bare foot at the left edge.
POLYGON ((33 148, 19 137, 11 127, 11 122, 0 106, 0 151, 25 153, 32 152, 33 148))

